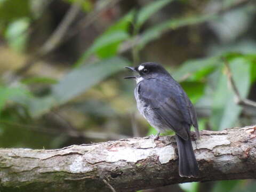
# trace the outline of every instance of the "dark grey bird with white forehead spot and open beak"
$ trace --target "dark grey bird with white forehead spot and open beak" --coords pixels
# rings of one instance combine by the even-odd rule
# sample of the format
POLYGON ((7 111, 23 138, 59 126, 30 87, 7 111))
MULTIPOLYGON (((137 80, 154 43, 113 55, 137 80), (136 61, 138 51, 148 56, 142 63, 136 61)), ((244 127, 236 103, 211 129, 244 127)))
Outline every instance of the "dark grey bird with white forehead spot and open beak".
POLYGON ((135 79, 134 97, 140 114, 159 134, 166 130, 175 132, 179 155, 180 177, 199 176, 198 164, 190 138, 193 125, 199 139, 197 116, 194 106, 181 85, 168 71, 155 62, 141 63, 137 67, 125 67, 138 75, 124 77, 135 79))

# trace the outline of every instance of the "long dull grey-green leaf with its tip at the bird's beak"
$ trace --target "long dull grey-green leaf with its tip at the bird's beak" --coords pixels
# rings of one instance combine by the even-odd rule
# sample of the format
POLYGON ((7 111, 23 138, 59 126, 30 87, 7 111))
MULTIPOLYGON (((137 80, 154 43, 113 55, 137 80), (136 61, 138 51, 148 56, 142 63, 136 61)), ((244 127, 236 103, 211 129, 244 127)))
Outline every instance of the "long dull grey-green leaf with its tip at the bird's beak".
POLYGON ((113 75, 129 62, 121 57, 102 60, 90 65, 74 68, 59 83, 52 86, 52 93, 46 97, 20 100, 28 107, 33 117, 47 113, 52 107, 57 107, 84 93, 93 85, 106 77, 113 75))

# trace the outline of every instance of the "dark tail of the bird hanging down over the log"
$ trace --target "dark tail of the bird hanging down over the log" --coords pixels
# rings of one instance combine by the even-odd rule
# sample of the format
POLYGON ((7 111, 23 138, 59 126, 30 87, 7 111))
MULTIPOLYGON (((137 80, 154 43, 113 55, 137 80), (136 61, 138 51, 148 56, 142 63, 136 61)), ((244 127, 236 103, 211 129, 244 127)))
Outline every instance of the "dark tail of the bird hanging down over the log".
POLYGON ((188 140, 175 135, 179 152, 179 175, 180 177, 198 177, 199 169, 192 147, 190 134, 188 140))

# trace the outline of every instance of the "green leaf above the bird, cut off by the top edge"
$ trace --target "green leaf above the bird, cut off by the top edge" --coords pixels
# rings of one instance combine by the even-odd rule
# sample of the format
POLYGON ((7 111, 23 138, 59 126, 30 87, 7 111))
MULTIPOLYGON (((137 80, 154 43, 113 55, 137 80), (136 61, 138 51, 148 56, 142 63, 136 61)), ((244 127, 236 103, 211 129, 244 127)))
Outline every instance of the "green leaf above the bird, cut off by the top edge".
POLYGON ((158 0, 143 6, 138 13, 137 26, 140 27, 145 23, 148 18, 150 18, 154 13, 162 9, 166 4, 172 2, 173 0, 158 0))

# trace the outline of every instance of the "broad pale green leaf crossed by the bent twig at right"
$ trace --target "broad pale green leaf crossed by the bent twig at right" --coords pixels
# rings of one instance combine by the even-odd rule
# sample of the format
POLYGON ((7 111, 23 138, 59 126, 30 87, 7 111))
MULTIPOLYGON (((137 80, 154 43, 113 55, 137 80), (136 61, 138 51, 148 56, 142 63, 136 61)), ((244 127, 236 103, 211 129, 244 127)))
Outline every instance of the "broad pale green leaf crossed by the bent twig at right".
MULTIPOLYGON (((231 73, 242 98, 246 98, 250 88, 250 63, 243 57, 230 61, 231 73)), ((223 130, 235 125, 242 107, 234 99, 234 91, 228 86, 228 78, 222 68, 218 80, 218 87, 213 95, 212 115, 210 124, 214 130, 223 130)))

